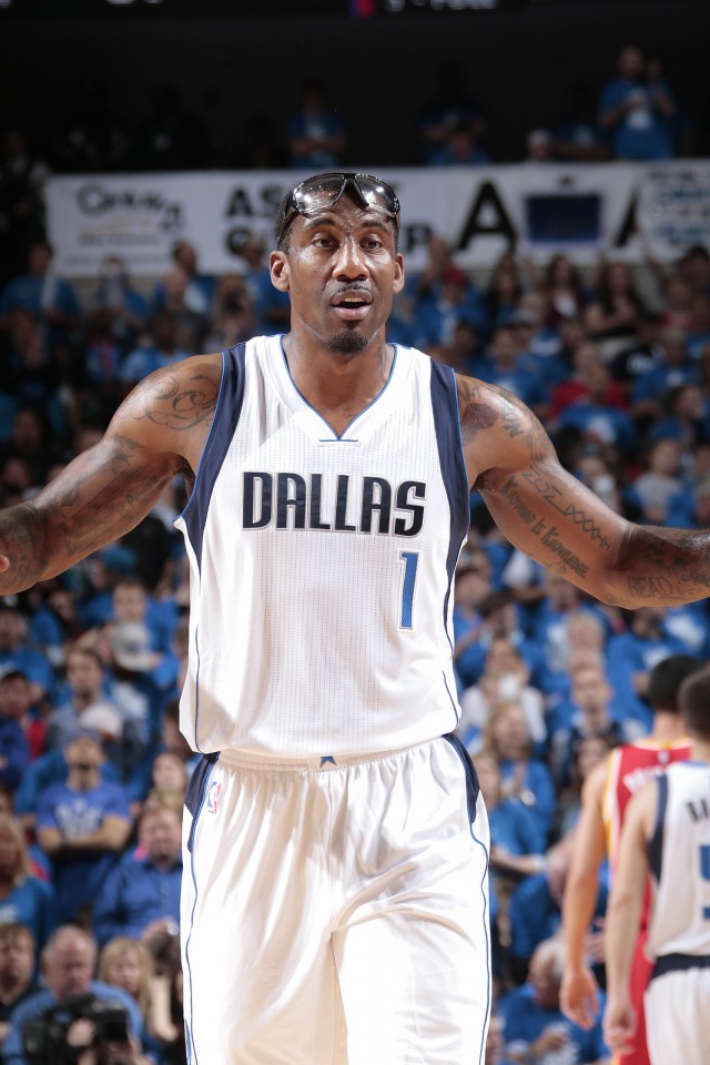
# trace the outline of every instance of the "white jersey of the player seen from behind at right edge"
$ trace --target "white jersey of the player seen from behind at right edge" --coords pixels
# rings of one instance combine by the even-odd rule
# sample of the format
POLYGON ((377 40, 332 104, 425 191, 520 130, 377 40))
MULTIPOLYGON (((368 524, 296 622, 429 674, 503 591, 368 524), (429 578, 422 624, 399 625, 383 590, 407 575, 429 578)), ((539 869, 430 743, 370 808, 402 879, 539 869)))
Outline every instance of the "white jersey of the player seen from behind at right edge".
POLYGON ((658 779, 657 881, 649 953, 710 955, 710 767, 677 762, 658 779))

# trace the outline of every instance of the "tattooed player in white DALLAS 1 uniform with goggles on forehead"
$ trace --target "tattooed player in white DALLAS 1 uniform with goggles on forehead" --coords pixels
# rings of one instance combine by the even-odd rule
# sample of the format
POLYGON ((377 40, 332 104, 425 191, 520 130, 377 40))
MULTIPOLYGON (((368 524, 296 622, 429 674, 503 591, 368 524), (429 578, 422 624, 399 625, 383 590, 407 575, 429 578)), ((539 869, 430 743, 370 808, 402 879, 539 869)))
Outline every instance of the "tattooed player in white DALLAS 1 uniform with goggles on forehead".
POLYGON ((158 371, 0 515, 0 595, 146 515, 182 473, 192 567, 182 941, 193 1065, 480 1063, 488 829, 452 737, 469 486, 521 550, 623 607, 707 595, 708 535, 626 521, 508 393, 395 348, 399 202, 282 201, 291 332, 158 371))

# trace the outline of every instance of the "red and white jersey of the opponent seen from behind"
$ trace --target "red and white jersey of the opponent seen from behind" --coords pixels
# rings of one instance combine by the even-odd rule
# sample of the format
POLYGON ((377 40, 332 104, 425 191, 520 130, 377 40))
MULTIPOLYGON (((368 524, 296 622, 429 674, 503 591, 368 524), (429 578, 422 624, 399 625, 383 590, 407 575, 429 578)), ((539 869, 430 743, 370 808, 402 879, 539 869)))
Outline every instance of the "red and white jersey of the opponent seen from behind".
MULTIPOLYGON (((607 835, 607 854, 611 875, 619 854, 619 839, 623 814, 628 802, 637 791, 658 777, 672 763, 684 761, 690 755, 688 740, 662 742, 660 740, 639 740, 623 743, 609 755, 609 772, 605 790, 601 816, 607 835)), ((648 920, 650 895, 647 890, 643 897, 641 925, 648 920)))

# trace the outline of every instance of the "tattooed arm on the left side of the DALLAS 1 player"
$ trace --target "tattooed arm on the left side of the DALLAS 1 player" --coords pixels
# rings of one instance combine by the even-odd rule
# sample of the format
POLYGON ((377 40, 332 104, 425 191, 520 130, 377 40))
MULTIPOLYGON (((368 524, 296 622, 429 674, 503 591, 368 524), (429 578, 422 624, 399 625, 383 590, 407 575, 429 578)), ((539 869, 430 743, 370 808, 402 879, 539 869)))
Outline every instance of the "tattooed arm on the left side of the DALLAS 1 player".
POLYGON ((29 503, 0 511, 0 596, 31 588, 134 528, 175 474, 197 468, 220 390, 220 355, 156 371, 94 447, 29 503))

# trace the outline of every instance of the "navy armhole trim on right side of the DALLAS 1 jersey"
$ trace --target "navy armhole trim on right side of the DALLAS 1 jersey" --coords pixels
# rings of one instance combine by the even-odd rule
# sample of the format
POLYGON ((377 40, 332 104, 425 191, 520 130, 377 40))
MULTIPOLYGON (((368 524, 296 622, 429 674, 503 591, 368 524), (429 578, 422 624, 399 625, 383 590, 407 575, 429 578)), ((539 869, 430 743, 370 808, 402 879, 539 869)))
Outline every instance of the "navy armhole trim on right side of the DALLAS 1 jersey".
MULTIPOLYGON (((442 477, 444 478, 444 487, 446 488, 450 514, 449 544, 446 556, 448 589, 444 597, 444 625, 446 626, 454 571, 462 545, 468 535, 470 494, 466 464, 464 462, 464 448, 462 445, 456 374, 450 366, 442 366, 440 363, 436 363, 434 359, 432 359, 432 410, 434 413, 434 428, 439 453, 439 466, 442 468, 442 477)), ((453 648, 452 653, 454 653, 453 648)))

